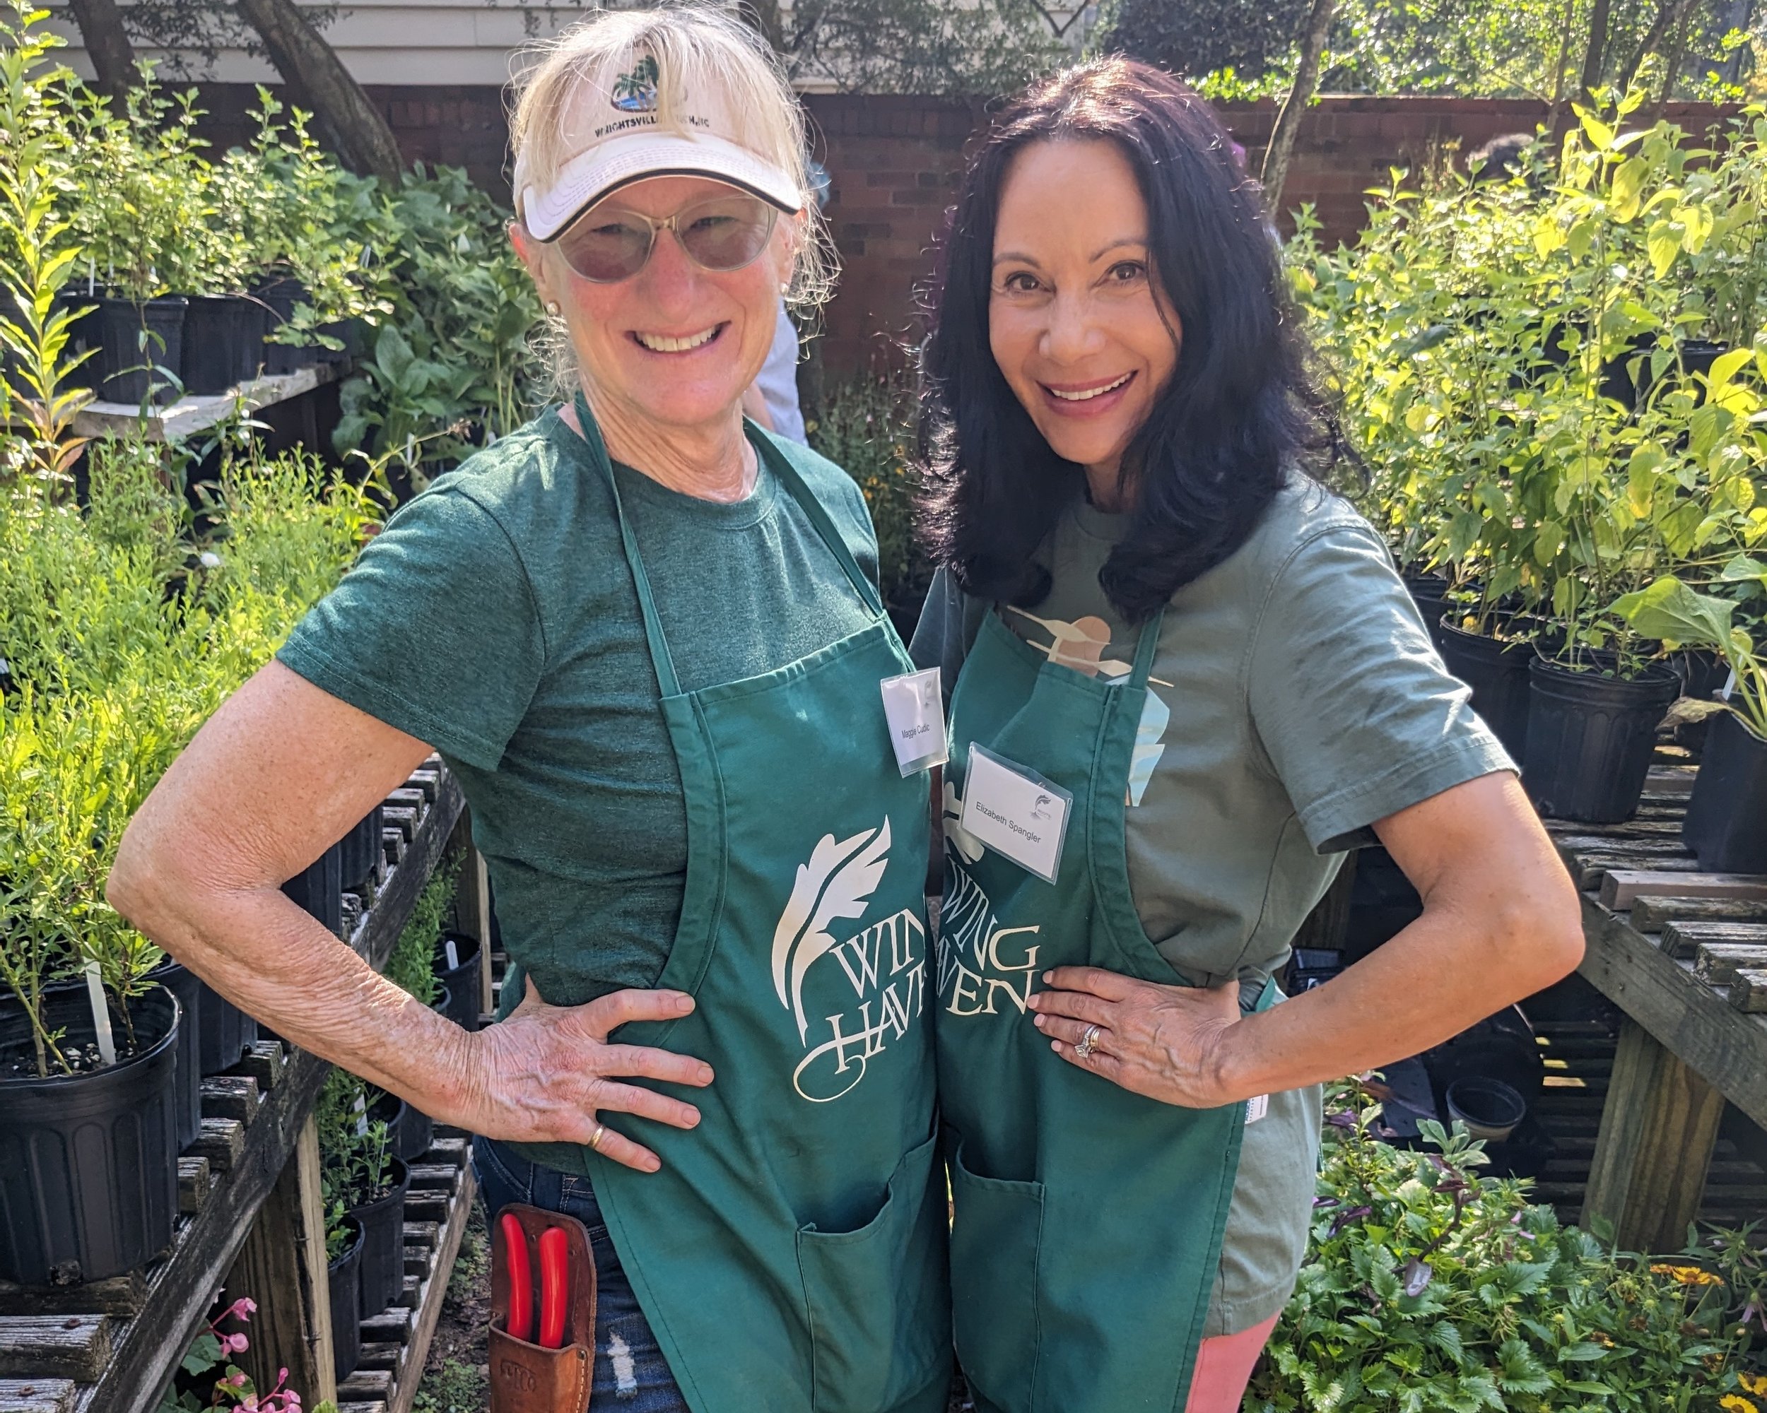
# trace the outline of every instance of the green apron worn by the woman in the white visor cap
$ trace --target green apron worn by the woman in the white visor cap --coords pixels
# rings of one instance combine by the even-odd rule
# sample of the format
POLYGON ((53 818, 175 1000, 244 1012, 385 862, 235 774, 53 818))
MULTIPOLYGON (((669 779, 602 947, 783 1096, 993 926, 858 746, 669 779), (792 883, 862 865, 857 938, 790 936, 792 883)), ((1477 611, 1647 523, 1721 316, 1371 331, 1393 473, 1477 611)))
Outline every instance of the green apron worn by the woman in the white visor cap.
MULTIPOLYGON (((684 692, 595 422, 687 804, 687 890, 657 986, 680 1021, 620 1044, 694 1054, 696 1129, 610 1115, 659 1173, 594 1160, 620 1263, 694 1413, 944 1413, 945 1194, 935 1189, 926 774, 896 767, 878 682, 912 662, 786 456, 751 434, 875 615, 777 671, 684 692)), ((940 1175, 942 1176, 942 1175, 940 1175)))

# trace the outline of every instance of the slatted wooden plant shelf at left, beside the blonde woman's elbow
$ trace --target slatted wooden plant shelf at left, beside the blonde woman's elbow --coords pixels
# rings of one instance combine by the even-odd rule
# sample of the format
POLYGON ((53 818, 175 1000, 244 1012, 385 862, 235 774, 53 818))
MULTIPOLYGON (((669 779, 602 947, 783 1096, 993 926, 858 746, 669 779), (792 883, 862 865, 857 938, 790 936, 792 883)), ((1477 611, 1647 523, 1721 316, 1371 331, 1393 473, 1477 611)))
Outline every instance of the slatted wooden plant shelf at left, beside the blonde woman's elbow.
MULTIPOLYGON (((350 938, 376 970, 385 966, 465 804, 459 784, 438 763, 419 775, 429 777, 424 781, 426 807, 410 843, 399 841, 398 862, 382 878, 350 938)), ((330 1069, 307 1051, 288 1053, 283 1046, 277 1051, 286 1062, 274 1063, 260 1053, 242 1065, 260 1069, 258 1076, 247 1076, 254 1086, 249 1095, 237 1083, 205 1088, 203 1137, 180 1160, 180 1189, 186 1189, 184 1166, 200 1155, 210 1167, 207 1192, 196 1187, 193 1169, 189 1203, 196 1210, 180 1215, 164 1258, 145 1272, 99 1282, 99 1288, 53 1293, 0 1288, 0 1309, 34 1305, 41 1312, 53 1303, 62 1319, 90 1312, 102 1323, 102 1339, 110 1344, 108 1356, 90 1362, 78 1378, 67 1378, 53 1360, 27 1369, 27 1332, 14 1323, 21 1316, 0 1316, 0 1413, 152 1413, 201 1328, 253 1217, 288 1164, 330 1069), (263 1084, 263 1077, 272 1083, 263 1084), (249 1115, 249 1123, 240 1115, 249 1115), (78 1309, 81 1303, 85 1311, 78 1309)), ((58 1358, 65 1364, 67 1355, 58 1358)))

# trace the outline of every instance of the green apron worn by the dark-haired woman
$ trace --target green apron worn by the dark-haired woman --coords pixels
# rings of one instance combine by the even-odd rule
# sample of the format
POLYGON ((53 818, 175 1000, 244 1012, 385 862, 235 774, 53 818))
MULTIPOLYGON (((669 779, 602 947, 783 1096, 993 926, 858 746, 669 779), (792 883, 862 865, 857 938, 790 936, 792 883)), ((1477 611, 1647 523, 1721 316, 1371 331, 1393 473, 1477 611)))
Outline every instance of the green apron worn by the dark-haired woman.
POLYGON ((1053 885, 945 839, 935 1030, 951 1286, 982 1413, 1182 1413, 1209 1314, 1246 1106, 1129 1093, 1055 1054, 1025 1009, 1051 966, 1186 984, 1136 917, 1124 844, 1159 622, 1133 673, 1104 682, 990 613, 951 699, 959 798, 972 744, 1074 797, 1053 885))

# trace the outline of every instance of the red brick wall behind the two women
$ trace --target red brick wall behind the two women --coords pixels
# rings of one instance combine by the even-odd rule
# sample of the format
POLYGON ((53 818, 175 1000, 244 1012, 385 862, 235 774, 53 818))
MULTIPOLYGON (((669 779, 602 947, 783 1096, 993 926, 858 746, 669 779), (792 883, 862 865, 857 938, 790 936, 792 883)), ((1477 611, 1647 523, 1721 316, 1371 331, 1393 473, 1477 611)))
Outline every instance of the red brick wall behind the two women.
MULTIPOLYGON (((375 87, 412 161, 465 166, 507 200, 504 92, 493 87, 375 87)), ((249 85, 207 85, 207 136, 244 138, 249 85)), ((979 99, 811 94, 804 99, 816 155, 834 189, 829 224, 841 284, 823 320, 822 364, 841 374, 891 357, 919 337, 915 288, 933 268, 933 242, 956 198, 965 148, 986 124, 979 99)), ((1725 110, 1670 104, 1665 117, 1703 132, 1725 110)), ((1221 117, 1256 170, 1276 108, 1223 104, 1221 117)), ((1444 97, 1327 97, 1308 110, 1283 193, 1285 207, 1313 201, 1327 242, 1350 240, 1364 219, 1364 191, 1392 166, 1415 168, 1454 145, 1470 152, 1543 122, 1541 102, 1444 97)))

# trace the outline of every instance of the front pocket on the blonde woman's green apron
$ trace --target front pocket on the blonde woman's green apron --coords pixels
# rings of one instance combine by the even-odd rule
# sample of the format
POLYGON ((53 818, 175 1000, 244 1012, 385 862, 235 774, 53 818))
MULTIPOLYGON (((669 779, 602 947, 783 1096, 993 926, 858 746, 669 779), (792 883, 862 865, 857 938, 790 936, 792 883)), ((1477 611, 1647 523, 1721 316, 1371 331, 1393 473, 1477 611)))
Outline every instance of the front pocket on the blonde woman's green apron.
POLYGON ((857 1231, 797 1233, 816 1413, 887 1413, 949 1364, 937 1150, 937 1136, 908 1150, 884 1210, 857 1231))

